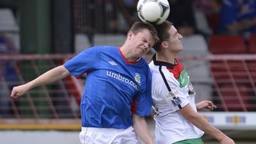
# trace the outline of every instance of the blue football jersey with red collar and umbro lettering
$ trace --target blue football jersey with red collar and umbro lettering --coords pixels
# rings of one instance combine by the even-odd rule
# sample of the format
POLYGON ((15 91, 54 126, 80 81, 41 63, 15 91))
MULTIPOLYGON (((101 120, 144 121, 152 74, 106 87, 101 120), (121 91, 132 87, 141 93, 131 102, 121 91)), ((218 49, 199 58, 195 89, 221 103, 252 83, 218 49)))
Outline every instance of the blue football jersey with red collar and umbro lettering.
POLYGON ((150 114, 152 76, 142 58, 129 62, 118 47, 98 46, 64 66, 77 78, 87 73, 81 99, 83 127, 125 129, 132 125, 132 113, 150 114))

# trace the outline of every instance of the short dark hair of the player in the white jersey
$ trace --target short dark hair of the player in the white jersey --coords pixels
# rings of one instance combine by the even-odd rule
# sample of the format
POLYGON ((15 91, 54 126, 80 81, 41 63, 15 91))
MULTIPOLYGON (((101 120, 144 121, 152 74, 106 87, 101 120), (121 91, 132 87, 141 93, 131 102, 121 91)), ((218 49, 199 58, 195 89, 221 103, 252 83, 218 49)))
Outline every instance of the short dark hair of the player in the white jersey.
POLYGON ((159 41, 153 47, 156 51, 160 51, 162 42, 169 40, 169 30, 172 26, 172 22, 169 22, 168 20, 165 20, 162 24, 156 25, 157 35, 159 37, 159 41))

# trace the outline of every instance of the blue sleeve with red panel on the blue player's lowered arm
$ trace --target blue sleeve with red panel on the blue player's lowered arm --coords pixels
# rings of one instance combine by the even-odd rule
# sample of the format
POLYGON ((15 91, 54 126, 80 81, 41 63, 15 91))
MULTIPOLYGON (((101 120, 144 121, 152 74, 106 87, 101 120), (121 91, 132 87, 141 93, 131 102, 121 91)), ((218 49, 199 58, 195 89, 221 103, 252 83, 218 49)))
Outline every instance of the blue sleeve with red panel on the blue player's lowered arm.
POLYGON ((139 92, 136 97, 134 97, 132 102, 132 113, 139 116, 148 116, 151 112, 152 107, 152 74, 148 68, 147 75, 145 77, 145 88, 139 92))

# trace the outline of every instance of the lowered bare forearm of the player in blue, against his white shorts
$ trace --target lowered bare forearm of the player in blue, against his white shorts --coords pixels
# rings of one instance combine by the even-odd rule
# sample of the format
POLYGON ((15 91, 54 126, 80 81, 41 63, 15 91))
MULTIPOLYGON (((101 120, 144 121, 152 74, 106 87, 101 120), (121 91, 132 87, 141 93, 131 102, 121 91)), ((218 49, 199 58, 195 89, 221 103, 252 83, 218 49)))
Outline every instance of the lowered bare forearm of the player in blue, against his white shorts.
POLYGON ((139 138, 146 144, 154 143, 154 140, 148 130, 147 122, 144 117, 133 114, 133 127, 139 138))

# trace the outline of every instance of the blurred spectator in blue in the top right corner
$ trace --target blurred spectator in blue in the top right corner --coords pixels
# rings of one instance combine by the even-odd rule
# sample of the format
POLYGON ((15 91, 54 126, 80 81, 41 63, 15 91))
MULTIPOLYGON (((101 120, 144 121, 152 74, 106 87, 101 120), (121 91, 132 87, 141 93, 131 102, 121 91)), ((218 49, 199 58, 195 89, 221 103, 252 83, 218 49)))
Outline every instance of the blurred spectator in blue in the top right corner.
POLYGON ((245 40, 256 32, 255 0, 223 0, 220 11, 219 32, 243 35, 245 40))

